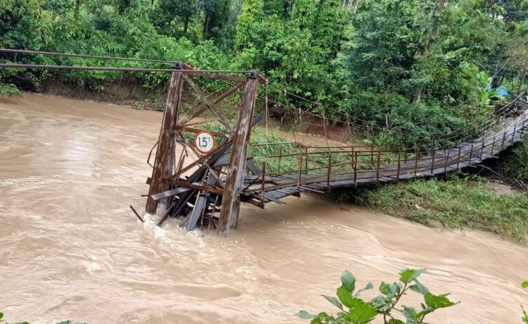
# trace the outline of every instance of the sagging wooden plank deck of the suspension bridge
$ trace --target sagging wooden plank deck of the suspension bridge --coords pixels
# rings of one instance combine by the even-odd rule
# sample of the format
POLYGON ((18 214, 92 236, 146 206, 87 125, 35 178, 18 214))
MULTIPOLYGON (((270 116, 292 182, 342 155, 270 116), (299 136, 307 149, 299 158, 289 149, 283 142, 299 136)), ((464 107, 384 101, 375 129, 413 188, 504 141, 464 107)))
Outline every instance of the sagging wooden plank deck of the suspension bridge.
POLYGON ((518 142, 528 127, 528 111, 517 118, 508 118, 501 130, 486 132, 486 135, 470 142, 464 142, 451 149, 432 151, 427 156, 413 160, 399 160, 390 166, 359 169, 354 173, 326 174, 291 173, 246 177, 246 189, 241 193, 244 201, 261 205, 262 202, 282 203, 280 199, 298 196, 301 192, 326 192, 337 187, 357 187, 386 182, 398 182, 415 177, 426 177, 447 173, 468 166, 474 166, 518 142), (265 182, 263 185, 263 181, 265 182))

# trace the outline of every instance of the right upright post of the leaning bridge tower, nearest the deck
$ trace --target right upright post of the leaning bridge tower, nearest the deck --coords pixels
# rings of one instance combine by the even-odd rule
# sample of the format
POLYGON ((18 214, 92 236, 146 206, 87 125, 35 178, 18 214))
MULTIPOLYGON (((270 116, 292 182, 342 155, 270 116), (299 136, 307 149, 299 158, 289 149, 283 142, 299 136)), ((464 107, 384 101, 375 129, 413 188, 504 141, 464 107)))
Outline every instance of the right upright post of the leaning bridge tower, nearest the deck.
POLYGON ((230 168, 227 171, 227 180, 222 197, 218 234, 223 236, 227 236, 230 226, 236 225, 239 216, 240 192, 244 184, 244 171, 246 170, 249 136, 251 135, 251 119, 253 118, 257 92, 258 77, 256 73, 251 73, 244 89, 237 128, 234 132, 230 168))

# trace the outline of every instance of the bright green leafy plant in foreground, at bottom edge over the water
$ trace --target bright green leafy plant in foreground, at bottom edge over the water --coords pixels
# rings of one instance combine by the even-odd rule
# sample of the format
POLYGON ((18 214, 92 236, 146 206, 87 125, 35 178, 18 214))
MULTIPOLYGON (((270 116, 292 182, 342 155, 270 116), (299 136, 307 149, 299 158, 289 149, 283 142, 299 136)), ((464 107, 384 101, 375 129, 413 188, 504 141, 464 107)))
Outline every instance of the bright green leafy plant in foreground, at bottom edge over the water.
POLYGON ((451 307, 457 303, 450 301, 448 294, 435 295, 429 292, 418 280, 420 274, 425 269, 403 269, 399 273, 400 282, 393 282, 391 284, 382 282, 379 285, 379 294, 371 301, 365 301, 360 297, 360 293, 367 289, 372 289, 372 283, 368 283, 365 288, 356 290, 356 278, 348 270, 341 273, 341 286, 337 288, 336 297, 322 295, 327 301, 336 306, 339 310, 337 316, 329 315, 326 312, 318 313, 317 315, 310 315, 306 311, 300 311, 297 316, 310 319, 312 324, 321 323, 349 323, 349 324, 367 324, 372 323, 377 316, 383 318, 384 324, 420 324, 426 323, 425 316, 439 309, 451 307), (401 298, 416 292, 422 294, 424 301, 420 305, 420 309, 415 307, 400 306, 401 298), (397 313, 401 313, 398 316, 397 313), (403 321, 402 319, 405 319, 403 321))

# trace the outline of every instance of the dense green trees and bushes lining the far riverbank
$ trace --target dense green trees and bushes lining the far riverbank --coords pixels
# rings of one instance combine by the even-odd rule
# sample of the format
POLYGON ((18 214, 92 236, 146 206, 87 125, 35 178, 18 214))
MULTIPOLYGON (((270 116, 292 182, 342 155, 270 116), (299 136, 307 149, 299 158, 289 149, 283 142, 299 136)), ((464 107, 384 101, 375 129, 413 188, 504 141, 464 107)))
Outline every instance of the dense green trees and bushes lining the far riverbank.
MULTIPOLYGON (((349 113, 414 138, 485 119, 489 86, 514 95, 523 89, 527 12, 527 0, 0 0, 0 46, 255 68, 277 88, 318 102, 291 101, 270 88, 278 108, 349 113)), ((168 80, 166 73, 0 70, 0 82, 23 89, 38 90, 50 77, 92 90, 123 77, 162 90, 168 80)))

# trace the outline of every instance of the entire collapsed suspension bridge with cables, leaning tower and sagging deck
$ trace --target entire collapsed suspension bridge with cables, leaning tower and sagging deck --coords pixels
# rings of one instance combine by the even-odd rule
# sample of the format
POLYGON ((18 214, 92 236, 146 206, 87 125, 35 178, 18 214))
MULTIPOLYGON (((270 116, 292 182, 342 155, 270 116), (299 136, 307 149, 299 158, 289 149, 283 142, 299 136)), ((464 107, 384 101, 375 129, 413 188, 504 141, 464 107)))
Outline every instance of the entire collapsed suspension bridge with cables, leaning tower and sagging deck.
MULTIPOLYGON (((283 204, 282 198, 299 196, 301 192, 327 192, 337 187, 398 182, 475 166, 487 158, 496 157, 496 154, 520 141, 528 127, 528 103, 522 96, 518 96, 498 109, 486 122, 469 125, 470 130, 460 130, 430 138, 427 149, 417 146, 413 149, 382 150, 373 145, 346 144, 316 147, 296 140, 250 144, 253 127, 263 120, 268 132, 268 101, 270 100, 267 87, 266 96, 263 98, 265 111, 256 113, 256 101, 260 97, 259 85, 269 84, 268 79, 259 73, 197 70, 186 63, 136 58, 13 49, 0 49, 0 53, 170 63, 172 65, 170 68, 116 68, 9 62, 0 63, 0 68, 170 73, 161 132, 158 142, 153 147, 153 149, 157 147, 156 157, 151 164, 153 171, 147 180, 150 187, 146 212, 154 214, 163 211, 158 225, 167 218, 182 217, 181 225, 187 230, 193 230, 198 225, 212 225, 218 229, 220 235, 227 235, 230 228, 237 226, 241 202, 264 208, 268 202, 283 204), (243 74, 244 76, 241 76, 243 74), (229 87, 211 99, 196 78, 220 80, 229 87), (182 96, 189 90, 194 92, 201 105, 194 107, 189 116, 184 116, 182 96), (231 101, 237 106, 237 116, 233 121, 220 111, 218 104, 239 92, 243 92, 239 96, 240 100, 231 101), (213 131, 211 127, 205 129, 210 125, 208 121, 211 119, 210 116, 213 116, 215 126, 220 125, 216 127, 217 131, 213 131), (265 154, 259 155, 258 147, 268 149, 265 150, 265 154), (165 208, 158 208, 161 205, 165 208)), ((282 92, 284 96, 303 99, 286 90, 282 92)), ((319 118, 327 135, 328 118, 321 118, 300 109, 298 114, 299 118, 301 116, 319 118)), ((357 122, 355 121, 357 118, 348 115, 344 119, 332 120, 332 123, 334 125, 342 123, 350 137, 357 127, 364 125, 361 120, 357 122)))

